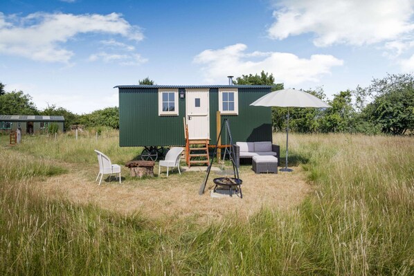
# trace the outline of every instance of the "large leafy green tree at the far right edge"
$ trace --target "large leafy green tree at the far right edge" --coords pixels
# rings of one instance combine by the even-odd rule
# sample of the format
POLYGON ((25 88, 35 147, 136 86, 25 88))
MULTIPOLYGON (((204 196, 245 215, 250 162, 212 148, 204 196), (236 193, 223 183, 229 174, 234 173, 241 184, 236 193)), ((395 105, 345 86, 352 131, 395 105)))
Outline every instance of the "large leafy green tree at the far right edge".
POLYGON ((388 74, 374 79, 363 89, 374 100, 367 104, 362 116, 378 125, 386 134, 402 135, 414 130, 414 76, 388 74))

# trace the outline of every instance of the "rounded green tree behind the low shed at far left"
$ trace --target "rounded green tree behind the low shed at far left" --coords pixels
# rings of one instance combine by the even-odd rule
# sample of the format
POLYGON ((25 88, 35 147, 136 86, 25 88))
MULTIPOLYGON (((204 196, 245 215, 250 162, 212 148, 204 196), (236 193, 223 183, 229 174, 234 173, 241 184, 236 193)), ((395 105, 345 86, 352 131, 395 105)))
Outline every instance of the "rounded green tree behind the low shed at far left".
POLYGON ((39 111, 32 97, 23 91, 12 91, 0 95, 0 114, 37 115, 39 111))

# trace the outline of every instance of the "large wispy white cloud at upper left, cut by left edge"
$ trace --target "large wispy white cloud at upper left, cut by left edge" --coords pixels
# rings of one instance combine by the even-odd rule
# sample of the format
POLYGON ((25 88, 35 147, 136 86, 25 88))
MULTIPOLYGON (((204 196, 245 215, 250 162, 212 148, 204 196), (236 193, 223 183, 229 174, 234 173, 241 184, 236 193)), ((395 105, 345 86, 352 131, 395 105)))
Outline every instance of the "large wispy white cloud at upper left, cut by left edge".
POLYGON ((44 62, 68 63, 74 53, 64 48, 69 39, 82 33, 121 35, 141 41, 143 34, 122 15, 72 15, 37 12, 26 17, 0 12, 0 53, 44 62))

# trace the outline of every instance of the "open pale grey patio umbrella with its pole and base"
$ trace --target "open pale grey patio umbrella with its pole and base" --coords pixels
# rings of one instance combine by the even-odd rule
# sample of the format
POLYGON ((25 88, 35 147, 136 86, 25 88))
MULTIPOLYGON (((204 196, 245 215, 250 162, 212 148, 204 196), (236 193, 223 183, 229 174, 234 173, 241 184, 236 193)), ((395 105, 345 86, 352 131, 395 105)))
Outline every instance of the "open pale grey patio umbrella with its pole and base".
POLYGON ((287 167, 287 146, 289 144, 289 107, 331 107, 321 99, 296 89, 282 89, 264 95, 262 98, 252 102, 250 105, 256 107, 287 107, 287 127, 286 127, 286 167, 280 169, 281 172, 291 172, 287 167))

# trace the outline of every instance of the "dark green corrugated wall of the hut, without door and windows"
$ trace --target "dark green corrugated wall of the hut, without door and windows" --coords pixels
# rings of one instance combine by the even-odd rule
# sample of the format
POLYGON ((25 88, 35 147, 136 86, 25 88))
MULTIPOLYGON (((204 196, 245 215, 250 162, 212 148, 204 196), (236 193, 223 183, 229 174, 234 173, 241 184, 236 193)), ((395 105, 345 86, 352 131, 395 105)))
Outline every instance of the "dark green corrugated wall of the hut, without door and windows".
MULTIPOLYGON (((228 118, 233 141, 271 141, 271 108, 249 104, 270 89, 238 89, 239 115, 228 118)), ((119 89, 120 146, 184 145, 186 100, 179 99, 179 116, 159 116, 158 89, 119 89)), ((218 89, 210 89, 210 144, 216 143, 218 89)), ((222 140, 224 144, 225 140, 222 140)))

